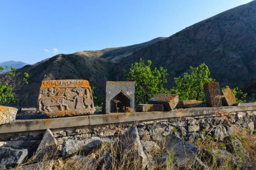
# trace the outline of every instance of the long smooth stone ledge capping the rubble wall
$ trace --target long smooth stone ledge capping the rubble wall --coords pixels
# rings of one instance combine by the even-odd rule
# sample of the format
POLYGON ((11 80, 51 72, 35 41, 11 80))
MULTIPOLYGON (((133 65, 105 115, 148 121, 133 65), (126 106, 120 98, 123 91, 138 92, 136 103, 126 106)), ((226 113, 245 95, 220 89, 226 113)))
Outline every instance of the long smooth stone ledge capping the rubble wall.
POLYGON ((145 122, 151 120, 211 116, 215 115, 217 112, 247 112, 253 110, 256 110, 256 104, 220 108, 187 108, 172 110, 170 112, 135 112, 132 114, 99 114, 66 118, 15 120, 10 124, 0 126, 0 134, 46 130, 47 128, 71 128, 79 126, 98 126, 129 122, 145 122))

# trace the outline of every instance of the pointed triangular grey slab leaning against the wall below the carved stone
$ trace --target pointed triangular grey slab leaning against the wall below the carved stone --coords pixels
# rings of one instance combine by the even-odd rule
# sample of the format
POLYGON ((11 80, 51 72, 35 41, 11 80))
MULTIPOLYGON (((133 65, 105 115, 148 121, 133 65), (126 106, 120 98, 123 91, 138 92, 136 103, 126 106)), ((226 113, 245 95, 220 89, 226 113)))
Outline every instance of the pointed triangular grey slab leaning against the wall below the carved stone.
POLYGON ((49 159, 54 157, 55 153, 57 152, 57 146, 57 141, 53 135, 53 132, 47 129, 40 144, 38 145, 38 148, 36 149, 34 162, 39 162, 44 157, 48 157, 49 159))

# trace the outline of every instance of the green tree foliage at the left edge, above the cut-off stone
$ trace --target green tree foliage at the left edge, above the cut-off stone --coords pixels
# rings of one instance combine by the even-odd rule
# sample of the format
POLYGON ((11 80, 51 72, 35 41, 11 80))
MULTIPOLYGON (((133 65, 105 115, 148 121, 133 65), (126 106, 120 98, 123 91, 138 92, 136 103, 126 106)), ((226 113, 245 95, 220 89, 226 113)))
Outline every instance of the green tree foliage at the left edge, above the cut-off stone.
MULTIPOLYGON (((5 67, 8 69, 9 67, 5 67)), ((3 67, 0 66, 0 71, 5 71, 3 67)), ((13 67, 10 68, 11 71, 7 72, 6 75, 9 77, 15 77, 15 70, 13 67)), ((28 73, 24 73, 22 81, 28 84, 28 73)), ((15 97, 15 93, 13 92, 13 85, 11 85, 10 81, 0 82, 0 105, 6 105, 11 102, 17 101, 15 97)))

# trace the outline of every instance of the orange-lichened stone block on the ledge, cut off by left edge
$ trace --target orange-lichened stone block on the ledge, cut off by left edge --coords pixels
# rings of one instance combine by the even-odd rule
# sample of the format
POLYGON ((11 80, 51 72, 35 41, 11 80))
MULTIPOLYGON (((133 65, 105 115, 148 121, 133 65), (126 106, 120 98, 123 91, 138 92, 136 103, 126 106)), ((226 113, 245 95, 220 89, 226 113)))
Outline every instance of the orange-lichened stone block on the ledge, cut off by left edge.
POLYGON ((17 108, 11 108, 11 107, 0 105, 0 125, 7 124, 15 120, 17 112, 18 112, 17 108))

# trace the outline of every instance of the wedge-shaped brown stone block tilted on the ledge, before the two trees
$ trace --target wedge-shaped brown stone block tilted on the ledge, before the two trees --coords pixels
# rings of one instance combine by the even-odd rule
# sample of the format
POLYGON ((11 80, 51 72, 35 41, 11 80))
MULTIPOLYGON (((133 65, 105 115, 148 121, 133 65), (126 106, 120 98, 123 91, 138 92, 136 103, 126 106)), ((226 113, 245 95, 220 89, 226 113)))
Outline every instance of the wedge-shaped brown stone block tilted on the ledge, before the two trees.
POLYGON ((179 95, 159 94, 156 95, 156 97, 149 99, 148 103, 162 104, 164 105, 164 110, 167 111, 174 110, 176 105, 179 103, 179 95))

